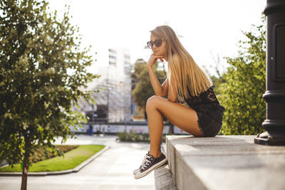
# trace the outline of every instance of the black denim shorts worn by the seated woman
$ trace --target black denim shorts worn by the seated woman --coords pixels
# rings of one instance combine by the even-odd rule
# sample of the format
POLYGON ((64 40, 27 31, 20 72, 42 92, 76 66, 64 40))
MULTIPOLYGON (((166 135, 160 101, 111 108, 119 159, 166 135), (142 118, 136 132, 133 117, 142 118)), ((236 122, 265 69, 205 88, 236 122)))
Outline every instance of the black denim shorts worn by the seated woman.
POLYGON ((218 103, 201 104, 192 107, 197 112, 198 125, 204 137, 214 137, 222 128, 224 107, 218 103))

